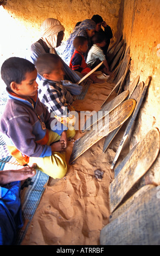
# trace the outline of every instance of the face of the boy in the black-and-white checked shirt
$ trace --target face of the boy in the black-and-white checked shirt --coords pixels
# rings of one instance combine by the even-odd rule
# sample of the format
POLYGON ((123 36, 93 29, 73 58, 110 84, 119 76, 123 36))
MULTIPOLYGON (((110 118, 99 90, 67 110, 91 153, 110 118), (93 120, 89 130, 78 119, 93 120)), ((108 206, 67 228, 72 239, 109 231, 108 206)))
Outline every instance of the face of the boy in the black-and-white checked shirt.
MULTIPOLYGON (((64 79, 65 72, 63 71, 61 62, 57 62, 56 68, 52 70, 50 74, 47 75, 47 79, 60 82, 64 79)), ((44 76, 44 75, 43 75, 44 76)))

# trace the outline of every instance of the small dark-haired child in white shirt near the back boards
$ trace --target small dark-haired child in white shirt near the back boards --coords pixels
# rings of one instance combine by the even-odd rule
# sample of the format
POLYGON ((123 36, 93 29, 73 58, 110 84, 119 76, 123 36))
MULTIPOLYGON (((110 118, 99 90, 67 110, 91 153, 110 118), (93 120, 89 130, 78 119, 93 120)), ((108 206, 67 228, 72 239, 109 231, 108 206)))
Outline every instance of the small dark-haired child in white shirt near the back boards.
POLYGON ((102 33, 96 33, 95 35, 93 35, 92 41, 93 46, 91 47, 87 55, 87 65, 89 66, 89 68, 93 69, 100 62, 103 62, 98 70, 103 71, 106 75, 110 75, 110 68, 108 66, 105 54, 101 49, 101 47, 104 47, 106 45, 105 35, 102 33))

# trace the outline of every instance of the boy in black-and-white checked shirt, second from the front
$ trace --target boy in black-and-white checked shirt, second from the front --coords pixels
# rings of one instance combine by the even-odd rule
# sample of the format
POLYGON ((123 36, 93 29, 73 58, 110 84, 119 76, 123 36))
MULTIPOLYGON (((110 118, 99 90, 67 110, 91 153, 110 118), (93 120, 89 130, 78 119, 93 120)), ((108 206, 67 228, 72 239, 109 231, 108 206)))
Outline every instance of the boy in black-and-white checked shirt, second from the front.
POLYGON ((57 54, 44 53, 37 59, 35 66, 43 80, 39 89, 40 101, 58 120, 67 124, 70 120, 69 109, 72 110, 70 104, 73 97, 61 82, 65 73, 60 57, 57 54))

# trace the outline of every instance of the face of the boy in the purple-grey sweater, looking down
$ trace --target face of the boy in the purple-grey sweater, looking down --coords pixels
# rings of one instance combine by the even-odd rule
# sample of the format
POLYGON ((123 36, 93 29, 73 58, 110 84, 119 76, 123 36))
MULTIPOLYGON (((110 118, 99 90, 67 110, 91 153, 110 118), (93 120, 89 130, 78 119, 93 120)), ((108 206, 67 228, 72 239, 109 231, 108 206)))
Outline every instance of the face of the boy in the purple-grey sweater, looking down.
POLYGON ((38 89, 38 84, 36 82, 37 70, 32 72, 27 72, 25 74, 25 80, 20 84, 16 82, 11 82, 10 87, 12 91, 20 96, 35 96, 38 89))

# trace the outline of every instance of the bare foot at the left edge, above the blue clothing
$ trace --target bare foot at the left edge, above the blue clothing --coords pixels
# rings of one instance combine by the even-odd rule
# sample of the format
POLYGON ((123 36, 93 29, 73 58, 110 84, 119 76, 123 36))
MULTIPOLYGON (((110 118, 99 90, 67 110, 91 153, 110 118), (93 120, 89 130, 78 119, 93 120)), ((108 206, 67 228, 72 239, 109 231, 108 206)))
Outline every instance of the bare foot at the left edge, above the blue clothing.
MULTIPOLYGON (((35 166, 34 166, 35 167, 35 166)), ((5 185, 13 181, 22 181, 36 174, 36 170, 33 167, 23 167, 19 170, 2 170, 0 172, 0 184, 5 185)))

